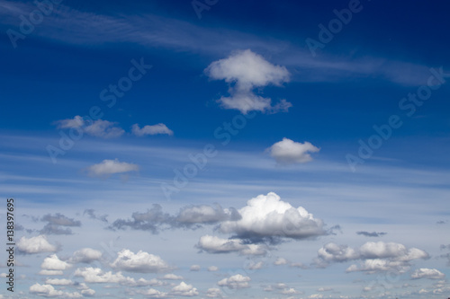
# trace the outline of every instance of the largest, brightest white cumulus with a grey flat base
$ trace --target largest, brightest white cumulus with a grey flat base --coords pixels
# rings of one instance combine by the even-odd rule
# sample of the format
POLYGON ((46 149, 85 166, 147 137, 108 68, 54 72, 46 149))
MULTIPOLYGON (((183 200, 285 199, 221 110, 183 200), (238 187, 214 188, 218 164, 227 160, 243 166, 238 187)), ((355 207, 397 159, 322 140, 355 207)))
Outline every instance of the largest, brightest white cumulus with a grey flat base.
POLYGON ((287 237, 304 239, 325 234, 323 222, 303 207, 293 207, 274 192, 247 201, 238 210, 241 219, 220 224, 220 232, 242 238, 287 237))

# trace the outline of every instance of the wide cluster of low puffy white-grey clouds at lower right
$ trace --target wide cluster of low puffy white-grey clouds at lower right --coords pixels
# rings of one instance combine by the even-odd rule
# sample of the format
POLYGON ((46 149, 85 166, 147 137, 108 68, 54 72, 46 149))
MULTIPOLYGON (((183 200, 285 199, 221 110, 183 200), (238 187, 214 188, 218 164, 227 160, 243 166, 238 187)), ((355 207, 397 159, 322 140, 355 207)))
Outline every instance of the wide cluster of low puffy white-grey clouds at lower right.
POLYGON ((351 265, 347 268, 347 272, 374 273, 392 270, 403 273, 410 268, 411 260, 428 259, 428 257, 426 251, 417 248, 407 249, 404 245, 395 242, 365 242, 357 249, 329 242, 318 251, 316 264, 319 267, 326 267, 332 262, 361 259, 359 267, 351 265))

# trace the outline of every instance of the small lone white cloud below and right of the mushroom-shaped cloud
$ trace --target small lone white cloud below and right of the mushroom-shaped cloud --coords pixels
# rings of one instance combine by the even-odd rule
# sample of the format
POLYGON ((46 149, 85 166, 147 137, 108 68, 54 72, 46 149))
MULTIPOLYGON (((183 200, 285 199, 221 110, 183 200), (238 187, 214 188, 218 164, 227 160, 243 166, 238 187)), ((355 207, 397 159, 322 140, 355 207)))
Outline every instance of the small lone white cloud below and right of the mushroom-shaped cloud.
POLYGON ((270 155, 276 163, 288 165, 293 163, 307 163, 312 161, 310 153, 317 153, 320 148, 309 142, 295 142, 288 138, 275 143, 268 148, 270 155))

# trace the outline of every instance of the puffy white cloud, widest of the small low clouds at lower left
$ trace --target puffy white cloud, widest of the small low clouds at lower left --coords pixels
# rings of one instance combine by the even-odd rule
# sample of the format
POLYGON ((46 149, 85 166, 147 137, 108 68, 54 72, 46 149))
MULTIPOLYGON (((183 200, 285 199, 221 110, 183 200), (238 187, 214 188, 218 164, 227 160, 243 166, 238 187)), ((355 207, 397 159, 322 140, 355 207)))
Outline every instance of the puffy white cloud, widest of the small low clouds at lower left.
POLYGON ((134 253, 130 250, 122 250, 117 253, 117 259, 112 268, 139 273, 155 273, 170 269, 166 262, 157 255, 145 251, 134 253))

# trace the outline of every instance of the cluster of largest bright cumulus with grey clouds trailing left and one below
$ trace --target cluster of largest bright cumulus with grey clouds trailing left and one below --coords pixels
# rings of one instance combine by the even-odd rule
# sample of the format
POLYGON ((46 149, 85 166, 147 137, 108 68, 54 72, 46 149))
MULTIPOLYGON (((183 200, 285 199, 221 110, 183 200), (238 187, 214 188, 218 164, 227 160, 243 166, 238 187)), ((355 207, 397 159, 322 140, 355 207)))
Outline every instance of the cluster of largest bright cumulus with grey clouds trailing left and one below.
POLYGON ((234 207, 223 208, 219 204, 199 205, 182 207, 176 215, 170 215, 163 212, 161 206, 153 205, 147 212, 133 213, 131 219, 115 220, 109 228, 159 233, 165 229, 196 229, 205 224, 219 224, 220 233, 234 235, 226 242, 204 236, 198 247, 212 253, 246 249, 259 251, 260 248, 247 246, 247 243, 277 242, 281 238, 314 238, 327 233, 320 219, 314 218, 303 207, 293 207, 282 201, 273 192, 248 200, 247 206, 239 210, 234 207))

